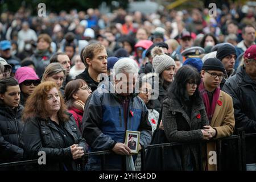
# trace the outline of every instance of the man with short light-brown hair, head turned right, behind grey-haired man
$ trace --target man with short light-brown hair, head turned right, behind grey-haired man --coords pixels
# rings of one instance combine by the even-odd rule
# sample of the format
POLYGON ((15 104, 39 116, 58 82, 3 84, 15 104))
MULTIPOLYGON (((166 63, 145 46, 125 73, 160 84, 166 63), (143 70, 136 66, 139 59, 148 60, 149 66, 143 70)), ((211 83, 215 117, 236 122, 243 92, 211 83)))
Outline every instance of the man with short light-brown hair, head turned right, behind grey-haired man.
POLYGON ((106 49, 101 44, 90 44, 86 46, 81 52, 81 60, 85 64, 85 71, 76 76, 76 79, 81 78, 86 81, 92 92, 98 88, 101 81, 99 75, 107 72, 107 58, 106 49))

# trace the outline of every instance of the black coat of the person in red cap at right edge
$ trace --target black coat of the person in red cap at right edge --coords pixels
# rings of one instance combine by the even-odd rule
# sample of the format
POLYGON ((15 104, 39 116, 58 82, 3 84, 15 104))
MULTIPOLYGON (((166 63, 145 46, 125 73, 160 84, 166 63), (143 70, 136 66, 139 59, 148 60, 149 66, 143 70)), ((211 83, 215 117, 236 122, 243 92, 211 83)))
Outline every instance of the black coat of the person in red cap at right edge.
MULTIPOLYGON (((230 77, 222 89, 233 98, 236 128, 256 133, 256 81, 251 80, 244 67, 230 77)), ((246 163, 256 163, 255 138, 246 138, 246 163)))

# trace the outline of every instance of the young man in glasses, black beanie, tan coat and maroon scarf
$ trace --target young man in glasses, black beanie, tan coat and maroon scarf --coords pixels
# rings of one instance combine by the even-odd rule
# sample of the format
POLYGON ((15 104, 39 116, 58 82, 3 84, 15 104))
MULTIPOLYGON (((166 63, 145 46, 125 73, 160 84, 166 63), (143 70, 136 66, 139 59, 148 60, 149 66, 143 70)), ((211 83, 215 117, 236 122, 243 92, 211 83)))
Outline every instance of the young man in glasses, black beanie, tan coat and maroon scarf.
MULTIPOLYGON (((234 131, 234 109, 232 97, 220 90, 221 80, 224 78, 225 68, 220 60, 209 58, 205 60, 201 71, 200 94, 203 98, 205 110, 209 119, 209 126, 204 130, 211 134, 210 138, 229 137, 234 131)), ((205 169, 217 170, 216 164, 208 163, 210 151, 216 151, 216 143, 207 143, 207 163, 205 169)))

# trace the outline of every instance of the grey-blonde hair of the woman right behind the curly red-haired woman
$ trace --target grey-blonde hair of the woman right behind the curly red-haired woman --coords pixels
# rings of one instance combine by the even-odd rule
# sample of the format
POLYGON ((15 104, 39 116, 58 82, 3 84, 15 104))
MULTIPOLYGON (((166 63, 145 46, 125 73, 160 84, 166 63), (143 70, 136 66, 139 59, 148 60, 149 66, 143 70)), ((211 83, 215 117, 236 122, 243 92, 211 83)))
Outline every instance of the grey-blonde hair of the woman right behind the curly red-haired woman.
POLYGON ((49 64, 46 69, 44 70, 44 74, 42 77, 42 82, 46 81, 46 77, 55 75, 57 73, 63 72, 65 76, 65 69, 60 63, 51 63, 49 64))

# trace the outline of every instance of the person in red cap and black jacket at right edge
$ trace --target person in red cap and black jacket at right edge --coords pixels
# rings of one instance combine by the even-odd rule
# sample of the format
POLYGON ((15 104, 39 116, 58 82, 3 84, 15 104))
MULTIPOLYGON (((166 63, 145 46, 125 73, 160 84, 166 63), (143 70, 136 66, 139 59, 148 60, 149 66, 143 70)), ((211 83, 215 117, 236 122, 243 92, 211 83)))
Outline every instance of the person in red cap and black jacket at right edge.
MULTIPOLYGON (((233 98, 236 128, 256 133, 256 45, 249 47, 243 57, 244 65, 225 82, 223 90, 233 98)), ((254 137, 246 138, 246 164, 247 170, 256 170, 254 137)))

